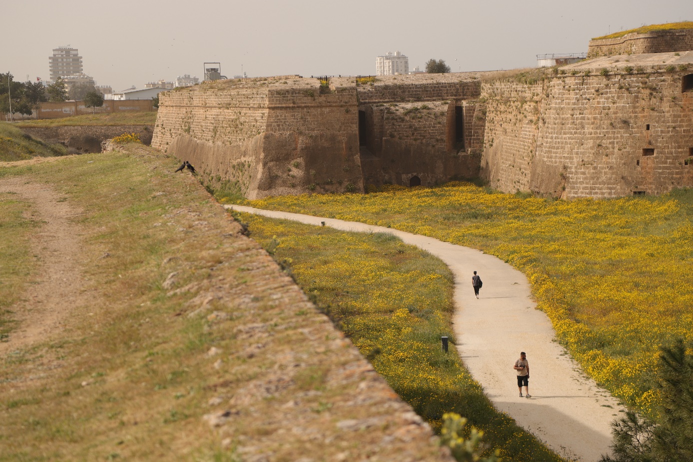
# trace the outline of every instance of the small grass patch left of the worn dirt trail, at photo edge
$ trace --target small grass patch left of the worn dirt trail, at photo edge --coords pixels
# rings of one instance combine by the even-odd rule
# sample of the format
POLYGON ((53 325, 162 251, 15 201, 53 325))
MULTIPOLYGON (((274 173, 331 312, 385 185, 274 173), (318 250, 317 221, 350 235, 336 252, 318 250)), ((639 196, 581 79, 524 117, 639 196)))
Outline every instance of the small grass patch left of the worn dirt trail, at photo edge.
POLYGON ((30 204, 16 194, 0 193, 0 341, 15 327, 9 308, 35 268, 29 238, 37 223, 28 217, 30 213, 30 204))

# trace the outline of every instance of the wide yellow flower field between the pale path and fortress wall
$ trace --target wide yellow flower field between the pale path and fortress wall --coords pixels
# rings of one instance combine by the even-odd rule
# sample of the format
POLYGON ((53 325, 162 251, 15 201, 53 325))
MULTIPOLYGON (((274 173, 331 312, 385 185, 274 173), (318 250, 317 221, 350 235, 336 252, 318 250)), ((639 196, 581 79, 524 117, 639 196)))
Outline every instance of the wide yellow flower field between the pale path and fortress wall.
POLYGON ((467 183, 249 202, 479 248, 523 271, 586 373, 656 418, 658 348, 693 339, 693 190, 551 200, 467 183))

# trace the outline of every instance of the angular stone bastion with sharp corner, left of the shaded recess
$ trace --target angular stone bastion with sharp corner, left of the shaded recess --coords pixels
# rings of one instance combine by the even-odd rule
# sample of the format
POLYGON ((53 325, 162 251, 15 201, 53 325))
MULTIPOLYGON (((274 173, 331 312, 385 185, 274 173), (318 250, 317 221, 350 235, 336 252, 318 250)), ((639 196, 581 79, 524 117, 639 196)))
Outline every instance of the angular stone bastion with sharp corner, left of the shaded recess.
POLYGON ((248 198, 362 191, 356 89, 297 76, 218 81, 160 97, 152 146, 248 198))

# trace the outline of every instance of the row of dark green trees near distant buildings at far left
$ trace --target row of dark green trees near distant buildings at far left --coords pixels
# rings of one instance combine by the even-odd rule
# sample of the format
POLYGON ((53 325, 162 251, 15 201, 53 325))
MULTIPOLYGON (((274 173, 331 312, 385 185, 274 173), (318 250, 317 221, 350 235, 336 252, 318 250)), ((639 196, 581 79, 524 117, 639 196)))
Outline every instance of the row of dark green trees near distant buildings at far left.
POLYGON ((94 108, 94 112, 103 106, 103 94, 89 83, 76 83, 68 92, 60 77, 48 86, 40 81, 17 82, 13 77, 9 72, 0 73, 0 113, 3 114, 31 115, 36 111, 38 117, 41 103, 60 103, 68 99, 82 100, 87 108, 94 108))

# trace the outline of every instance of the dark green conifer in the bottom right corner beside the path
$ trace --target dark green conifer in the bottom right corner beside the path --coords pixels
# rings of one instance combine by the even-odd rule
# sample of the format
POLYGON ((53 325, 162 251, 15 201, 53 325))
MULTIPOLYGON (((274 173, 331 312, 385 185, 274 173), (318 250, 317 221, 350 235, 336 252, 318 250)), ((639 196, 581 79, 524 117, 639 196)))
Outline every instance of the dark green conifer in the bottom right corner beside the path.
POLYGON ((658 422, 629 411, 613 423, 613 457, 602 462, 693 461, 693 342, 662 348, 658 389, 662 398, 658 422))

